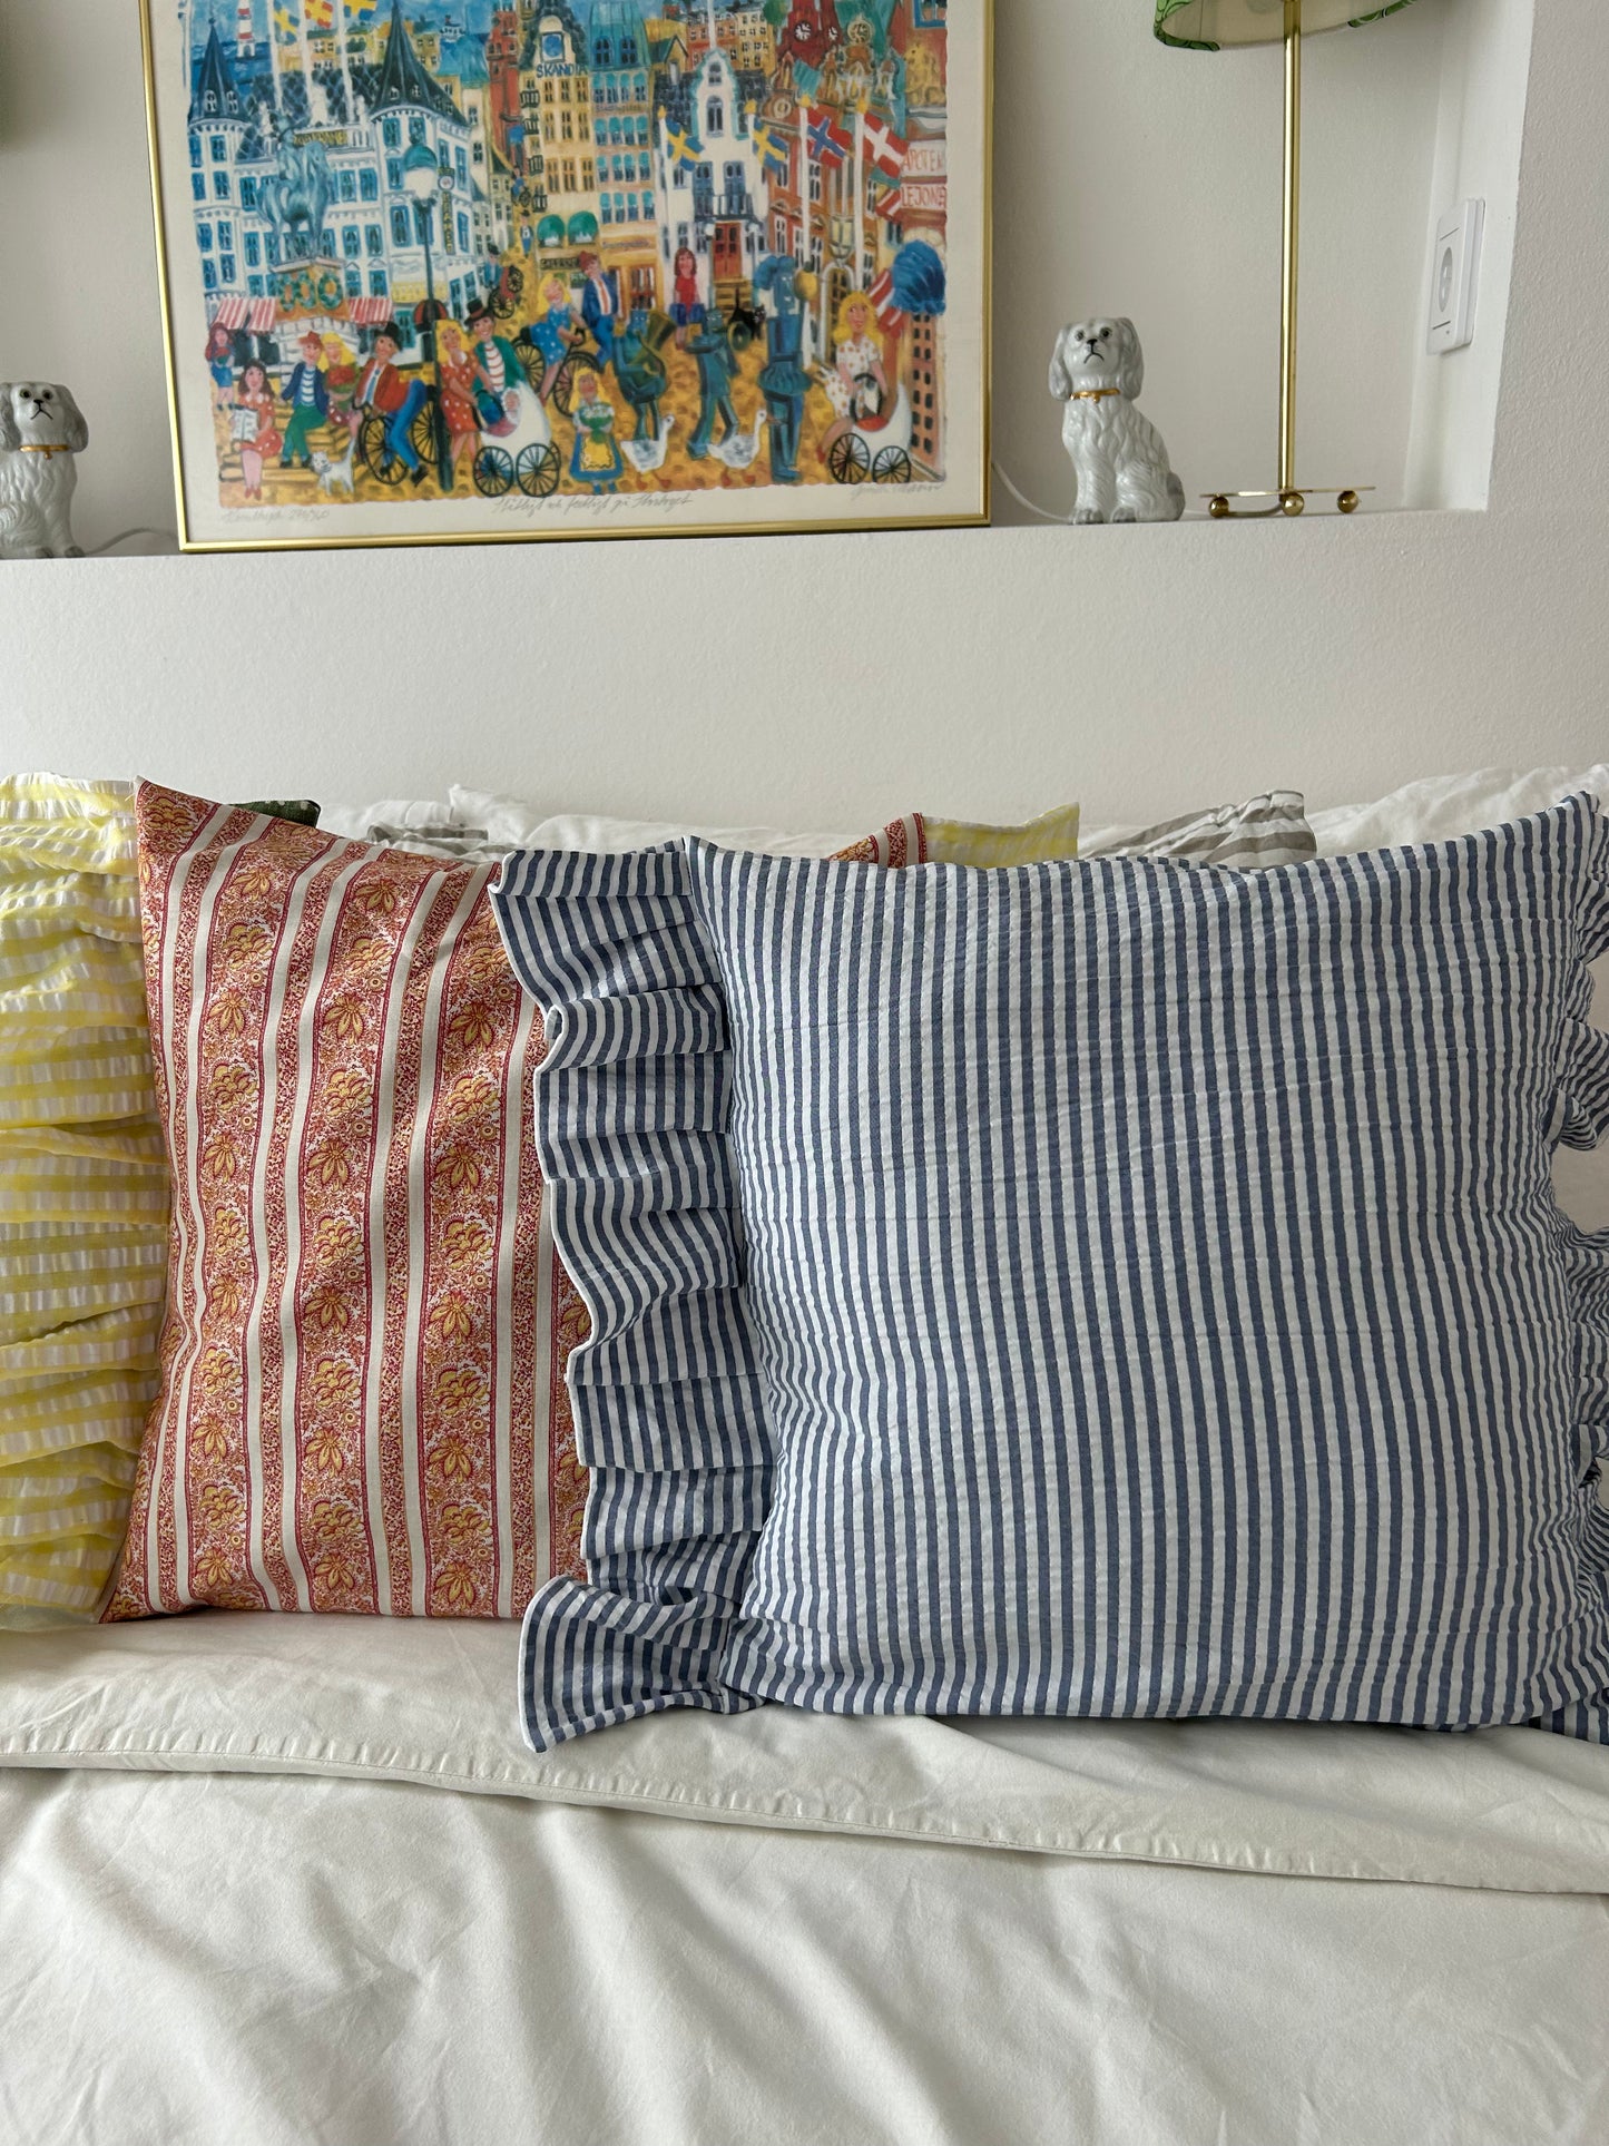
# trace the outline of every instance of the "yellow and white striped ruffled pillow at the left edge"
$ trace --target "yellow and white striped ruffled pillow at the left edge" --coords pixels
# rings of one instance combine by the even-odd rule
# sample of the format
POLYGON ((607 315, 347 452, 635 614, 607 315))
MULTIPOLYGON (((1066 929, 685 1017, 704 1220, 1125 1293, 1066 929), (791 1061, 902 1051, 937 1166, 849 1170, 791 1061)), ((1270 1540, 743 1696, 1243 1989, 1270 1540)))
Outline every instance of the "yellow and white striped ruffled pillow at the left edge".
POLYGON ((0 781, 0 1625, 105 1592, 165 1268, 133 790, 0 781))

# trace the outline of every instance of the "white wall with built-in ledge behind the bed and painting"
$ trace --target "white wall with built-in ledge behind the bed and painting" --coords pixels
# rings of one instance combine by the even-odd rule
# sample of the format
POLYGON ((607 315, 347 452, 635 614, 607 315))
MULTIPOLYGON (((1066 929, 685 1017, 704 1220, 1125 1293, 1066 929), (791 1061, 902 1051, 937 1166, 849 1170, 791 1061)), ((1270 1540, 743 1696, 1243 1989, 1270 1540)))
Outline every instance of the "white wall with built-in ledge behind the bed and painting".
MULTIPOLYGON (((1319 339, 1307 438, 1315 459, 1343 461, 1315 481, 1360 474, 1375 446, 1379 468, 1405 455, 1440 54, 1459 4, 1420 0, 1313 47, 1315 219, 1339 217, 1324 172, 1347 161, 1347 133, 1369 148, 1356 221, 1328 238, 1319 227, 1309 249, 1311 290, 1334 277, 1339 292, 1328 328, 1317 296, 1307 315, 1319 339), (1390 139, 1375 137, 1369 99, 1399 94, 1390 139), (1401 227, 1371 195, 1386 170, 1401 227), (1382 365, 1397 380, 1384 395, 1382 365)), ((0 0, 0 288, 26 292, 0 320, 0 371, 26 339, 41 369, 90 384, 88 534, 165 504, 129 13, 124 0, 0 0), (116 34, 86 79, 90 11, 116 34), (67 174, 58 227, 99 208, 114 236, 88 255, 45 245, 43 174, 67 174)), ((1253 165, 1257 202, 1276 172, 1276 114, 1257 84, 1268 56, 1195 60, 1143 34, 1118 49, 1111 24, 1135 13, 1137 0, 1000 0, 1000 449, 1045 491, 1062 474, 1047 330, 1086 298, 1156 320, 1148 406, 1193 489, 1240 481, 1266 451, 1276 258, 1242 217, 1253 165), (1058 129, 1047 79, 1077 56, 1068 19, 1113 71, 1066 75, 1075 124, 1058 129), (1081 170, 1079 129, 1131 84, 1225 94, 1219 122, 1238 129, 1197 167, 1178 152, 1182 105, 1146 122, 1141 101, 1081 170), (1163 163, 1169 185, 1152 197, 1163 163), (1223 395, 1221 330, 1201 341, 1186 324, 1169 348, 1169 281, 1146 281, 1139 247, 1128 277, 1116 238, 1103 251, 1098 204, 1116 217, 1133 189, 1146 217, 1191 227, 1182 255, 1199 266, 1201 305, 1219 281, 1242 288, 1244 401, 1223 395)), ((1609 227, 1607 90, 1609 11, 1547 0, 1489 515, 13 567, 0 571, 0 764, 139 766, 200 790, 330 798, 463 781, 556 811, 873 824, 912 805, 1019 815, 1075 794, 1103 820, 1137 818, 1266 783, 1332 803, 1478 762, 1603 760, 1609 283, 1583 285, 1577 247, 1609 227)), ((1201 159, 1214 131, 1189 135, 1201 159)))

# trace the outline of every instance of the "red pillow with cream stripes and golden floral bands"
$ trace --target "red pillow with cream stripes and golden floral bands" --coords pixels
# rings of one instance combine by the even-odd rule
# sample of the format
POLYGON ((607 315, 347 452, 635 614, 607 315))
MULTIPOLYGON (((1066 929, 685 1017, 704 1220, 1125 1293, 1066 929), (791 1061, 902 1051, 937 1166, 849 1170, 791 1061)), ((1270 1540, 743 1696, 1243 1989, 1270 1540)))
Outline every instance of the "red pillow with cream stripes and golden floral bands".
POLYGON ((511 1618, 579 1571, 586 1311, 543 1223, 543 1034, 496 871, 142 785, 174 1219, 109 1620, 511 1618))

